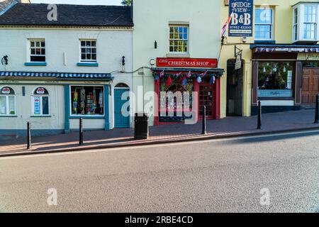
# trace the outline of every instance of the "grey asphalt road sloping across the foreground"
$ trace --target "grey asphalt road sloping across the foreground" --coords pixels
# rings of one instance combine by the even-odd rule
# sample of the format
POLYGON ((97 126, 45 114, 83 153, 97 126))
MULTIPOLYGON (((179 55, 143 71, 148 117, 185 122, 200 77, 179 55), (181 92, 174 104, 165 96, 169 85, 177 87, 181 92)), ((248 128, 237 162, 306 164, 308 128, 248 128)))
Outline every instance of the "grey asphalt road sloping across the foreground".
POLYGON ((319 212, 319 132, 4 157, 0 211, 319 212))

